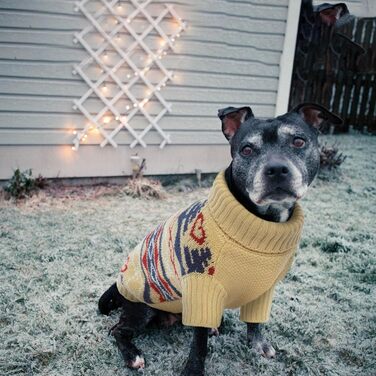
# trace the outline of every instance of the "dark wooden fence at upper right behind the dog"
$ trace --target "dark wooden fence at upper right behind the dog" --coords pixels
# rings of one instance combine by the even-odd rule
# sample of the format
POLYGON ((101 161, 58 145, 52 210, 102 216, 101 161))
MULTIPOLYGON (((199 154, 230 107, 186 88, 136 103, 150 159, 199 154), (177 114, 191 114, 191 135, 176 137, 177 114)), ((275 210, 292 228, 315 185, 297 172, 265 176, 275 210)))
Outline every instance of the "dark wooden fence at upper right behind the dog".
POLYGON ((344 120, 336 131, 376 133, 376 18, 334 28, 312 13, 300 22, 290 107, 317 102, 344 120))

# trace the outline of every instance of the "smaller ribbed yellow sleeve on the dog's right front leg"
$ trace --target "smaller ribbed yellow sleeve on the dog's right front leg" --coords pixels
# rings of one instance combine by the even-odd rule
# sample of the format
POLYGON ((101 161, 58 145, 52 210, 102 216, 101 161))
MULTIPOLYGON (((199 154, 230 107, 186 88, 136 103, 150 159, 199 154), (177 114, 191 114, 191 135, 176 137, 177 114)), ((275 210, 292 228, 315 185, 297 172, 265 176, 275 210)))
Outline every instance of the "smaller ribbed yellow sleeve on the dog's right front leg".
POLYGON ((261 323, 269 320, 274 295, 274 286, 256 300, 240 308, 240 320, 261 323))

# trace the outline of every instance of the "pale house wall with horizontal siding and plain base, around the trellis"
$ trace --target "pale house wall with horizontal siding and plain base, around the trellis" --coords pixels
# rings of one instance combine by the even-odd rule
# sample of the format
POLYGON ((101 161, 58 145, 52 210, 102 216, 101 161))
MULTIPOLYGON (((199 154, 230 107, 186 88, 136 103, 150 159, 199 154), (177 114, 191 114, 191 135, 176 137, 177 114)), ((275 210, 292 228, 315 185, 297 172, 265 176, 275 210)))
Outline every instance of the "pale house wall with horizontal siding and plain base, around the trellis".
MULTIPOLYGON (((73 36, 88 21, 72 0, 0 2, 0 179, 17 167, 46 177, 127 175, 136 152, 149 174, 214 172, 229 160, 219 108, 251 105, 257 116, 274 116, 289 1, 168 3, 188 23, 176 53, 163 60, 176 75, 163 89, 172 112, 159 121, 172 144, 161 150, 150 132, 146 149, 130 149, 132 137, 121 132, 116 149, 100 148, 100 136, 89 135, 74 152, 72 129, 86 120, 72 104, 87 86, 72 69, 87 53, 73 36)), ((91 98, 88 107, 95 112, 101 104, 91 98)), ((141 118, 132 125, 145 126, 141 118)))

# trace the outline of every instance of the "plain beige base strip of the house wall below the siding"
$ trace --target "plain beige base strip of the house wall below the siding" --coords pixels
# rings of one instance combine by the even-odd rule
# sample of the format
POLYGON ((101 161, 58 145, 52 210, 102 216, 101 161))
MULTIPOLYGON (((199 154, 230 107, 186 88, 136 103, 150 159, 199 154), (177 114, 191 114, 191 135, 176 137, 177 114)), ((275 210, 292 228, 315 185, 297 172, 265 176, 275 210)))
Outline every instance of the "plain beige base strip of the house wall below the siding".
POLYGON ((146 158, 149 175, 217 172, 230 162, 229 145, 171 145, 162 150, 82 146, 79 152, 70 146, 7 146, 0 148, 0 179, 9 179, 15 168, 32 168, 35 175, 48 178, 130 175, 130 156, 135 153, 146 158))

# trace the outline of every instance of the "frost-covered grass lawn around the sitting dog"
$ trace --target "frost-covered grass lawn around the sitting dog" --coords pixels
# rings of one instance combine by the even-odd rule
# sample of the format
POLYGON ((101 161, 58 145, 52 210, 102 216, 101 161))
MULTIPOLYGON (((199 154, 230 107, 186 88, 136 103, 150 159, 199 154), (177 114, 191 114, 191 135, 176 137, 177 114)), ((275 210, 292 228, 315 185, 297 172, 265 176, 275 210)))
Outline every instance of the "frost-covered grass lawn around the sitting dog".
MULTIPOLYGON (((339 140, 348 158, 303 200, 301 247, 277 288, 266 333, 277 357, 250 351, 238 312, 227 311, 222 334, 209 340, 208 375, 375 374, 376 137, 326 139, 339 140)), ((1 201, 0 374, 135 374, 108 336, 117 315, 99 315, 98 297, 149 229, 207 193, 1 201)), ((138 337, 142 372, 178 375, 189 341, 181 326, 138 337)))

